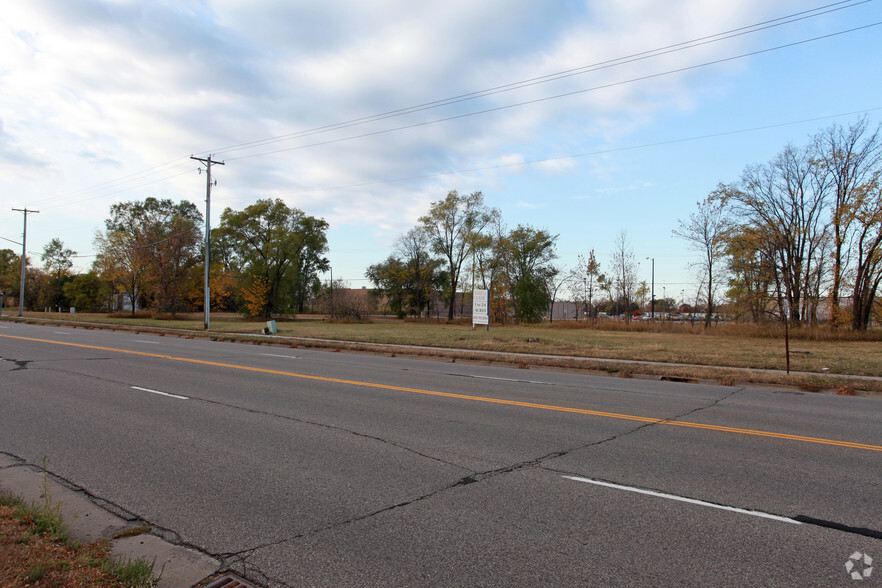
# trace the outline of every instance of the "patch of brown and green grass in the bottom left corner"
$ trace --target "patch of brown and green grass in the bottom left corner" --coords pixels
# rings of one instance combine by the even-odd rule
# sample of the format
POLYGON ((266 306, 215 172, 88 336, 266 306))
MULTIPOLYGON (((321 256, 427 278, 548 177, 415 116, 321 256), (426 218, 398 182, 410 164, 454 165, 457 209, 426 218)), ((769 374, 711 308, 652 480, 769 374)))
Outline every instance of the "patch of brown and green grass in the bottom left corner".
POLYGON ((145 558, 113 558, 107 539, 71 541, 48 475, 40 501, 0 492, 0 586, 146 588, 159 581, 153 568, 145 558))

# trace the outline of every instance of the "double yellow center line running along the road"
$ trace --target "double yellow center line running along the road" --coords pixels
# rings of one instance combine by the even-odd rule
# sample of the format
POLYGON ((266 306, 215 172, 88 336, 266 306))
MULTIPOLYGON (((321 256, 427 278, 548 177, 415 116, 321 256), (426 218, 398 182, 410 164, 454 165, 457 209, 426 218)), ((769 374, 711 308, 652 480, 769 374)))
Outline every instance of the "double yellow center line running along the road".
POLYGON ((704 429, 708 431, 720 431, 724 433, 735 433, 739 435, 752 435, 756 437, 771 437, 773 439, 787 439, 790 441, 801 441, 804 443, 819 443, 823 445, 836 445, 839 447, 850 447, 852 449, 868 449, 870 451, 882 451, 880 445, 869 445, 866 443, 853 443, 851 441, 838 441, 836 439, 822 439, 819 437, 805 437, 802 435, 790 435, 788 433, 775 433, 772 431, 757 431, 753 429, 741 429, 738 427, 723 427, 720 425, 708 425, 704 423, 692 423, 688 421, 672 421, 668 419, 659 419, 653 417, 643 417, 631 414, 620 414, 615 412, 603 412, 599 410, 588 410, 585 408, 573 408, 568 406, 556 406, 553 404, 537 404, 534 402, 521 402, 518 400, 505 400, 502 398, 489 398, 486 396, 470 396, 468 394, 454 394, 452 392, 439 392, 437 390, 424 390, 421 388, 408 388, 406 386, 393 386, 391 384, 375 384, 372 382, 361 382, 358 380, 345 380, 341 378, 328 378, 326 376, 311 376, 309 374, 300 374, 297 372, 289 372, 283 370, 271 370, 267 368, 258 368, 247 365, 237 365, 231 363, 220 363, 216 361, 207 361, 204 359, 191 359, 188 357, 177 357, 174 355, 162 355, 159 353, 148 353, 146 351, 131 351, 128 349, 116 349, 113 347, 99 347, 97 345, 84 345, 82 343, 69 343, 67 341, 49 341, 47 339, 34 339, 31 337, 16 337, 13 335, 0 335, 5 339, 19 339, 22 341, 33 341, 36 343, 49 343, 51 345, 64 345, 67 347, 80 347, 83 349, 95 349, 99 351, 111 351, 114 353, 124 353, 128 355, 140 355, 142 357, 153 357, 157 359, 168 359, 171 361, 181 361, 185 363, 195 363, 199 365, 208 365, 213 367, 229 368, 234 370, 244 370, 249 372, 259 372, 262 374, 273 374, 277 376, 288 376, 291 378, 301 378, 304 380, 317 380, 320 382, 331 382, 334 384, 345 384, 348 386, 361 386, 365 388, 377 388, 381 390, 395 390, 398 392, 409 392, 412 394, 425 394, 428 396, 440 396, 443 398, 455 398, 457 400, 472 400, 475 402, 486 402, 490 404, 502 404, 506 406, 519 406, 523 408, 535 408, 540 410, 553 410, 557 412, 569 412, 573 414, 584 414, 589 416, 598 416, 604 418, 620 419, 627 421, 638 421, 642 423, 654 423, 658 425, 670 425, 674 427, 689 427, 693 429, 704 429))

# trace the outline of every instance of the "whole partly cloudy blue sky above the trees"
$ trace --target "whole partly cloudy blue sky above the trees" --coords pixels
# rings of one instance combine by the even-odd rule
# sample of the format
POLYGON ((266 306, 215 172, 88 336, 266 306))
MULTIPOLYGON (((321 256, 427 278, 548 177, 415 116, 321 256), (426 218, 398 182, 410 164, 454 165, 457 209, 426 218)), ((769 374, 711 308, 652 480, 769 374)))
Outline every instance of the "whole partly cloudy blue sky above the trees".
MULTIPOLYGON (((330 225, 334 278, 450 190, 558 235, 623 231, 656 297, 694 296, 672 232, 720 182, 834 124, 882 121, 879 0, 7 0, 0 248, 94 259, 114 202, 211 225, 281 198, 330 225)), ((327 276, 326 276, 327 277, 327 276)))

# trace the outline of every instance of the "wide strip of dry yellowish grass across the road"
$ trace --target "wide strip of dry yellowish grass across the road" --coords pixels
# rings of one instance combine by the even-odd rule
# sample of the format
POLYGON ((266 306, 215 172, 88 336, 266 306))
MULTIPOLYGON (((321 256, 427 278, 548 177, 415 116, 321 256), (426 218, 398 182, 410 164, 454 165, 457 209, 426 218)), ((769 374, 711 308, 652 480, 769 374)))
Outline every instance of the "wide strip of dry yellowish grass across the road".
MULTIPOLYGON (((181 315, 175 319, 147 316, 121 318, 96 314, 33 313, 34 318, 58 321, 82 321, 112 324, 127 328, 184 329, 190 335, 202 336, 202 315, 181 315)), ((205 333, 212 338, 259 335, 264 321, 245 320, 239 315, 212 315, 212 329, 205 333)), ((700 323, 666 323, 636 321, 626 325, 617 321, 557 321, 540 325, 491 325, 487 331, 472 330, 464 321, 401 321, 375 319, 371 323, 345 323, 322 320, 321 317, 298 318, 277 322, 278 335, 319 339, 323 342, 297 341, 300 345, 347 347, 336 343, 414 345, 430 348, 452 348, 463 351, 494 351, 527 353, 537 356, 599 358, 604 360, 637 360, 666 364, 695 364, 708 368, 747 368, 784 370, 783 329, 777 326, 719 324, 705 329, 700 323)), ((882 375, 882 330, 855 333, 847 329, 794 329, 790 341, 791 371, 880 376, 882 375)), ((160 334, 160 333, 157 333, 160 334)), ((349 346, 351 347, 351 346, 349 346)), ((431 351, 425 354, 432 355, 431 351)), ((536 363, 531 361, 531 363, 536 363)), ((558 365, 561 363, 557 362, 558 365)), ((673 366, 672 366, 673 367, 673 366)), ((601 368, 603 369, 603 368, 601 368)), ((634 373, 645 369, 628 368, 634 373)), ((683 371, 684 368, 679 368, 683 371)), ((650 370, 652 371, 652 370, 650 370)), ((655 370, 658 371, 658 370, 655 370)), ((704 377, 704 376, 701 376, 704 377)), ((735 376, 744 381, 744 374, 735 376)), ((767 377, 760 381, 768 380, 767 377)), ((751 380, 755 381, 755 380, 751 380)), ((776 382, 770 382, 776 383, 776 382)), ((808 385, 811 387, 811 385, 808 385)))

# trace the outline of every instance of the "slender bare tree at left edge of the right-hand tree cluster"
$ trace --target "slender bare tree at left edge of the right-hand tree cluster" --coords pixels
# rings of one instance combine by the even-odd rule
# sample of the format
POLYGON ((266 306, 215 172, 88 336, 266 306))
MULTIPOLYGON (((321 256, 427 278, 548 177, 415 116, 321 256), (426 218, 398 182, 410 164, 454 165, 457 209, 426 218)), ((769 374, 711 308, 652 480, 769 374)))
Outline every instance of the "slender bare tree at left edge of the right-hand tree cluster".
POLYGON ((727 218, 722 200, 716 193, 698 202, 698 209, 685 221, 678 220, 679 227, 674 235, 686 240, 689 247, 701 254, 701 260, 693 264, 704 276, 705 294, 707 295, 707 313, 704 317, 705 328, 710 327, 711 318, 716 309, 715 297, 721 276, 719 267, 726 254, 726 235, 731 224, 727 218))

